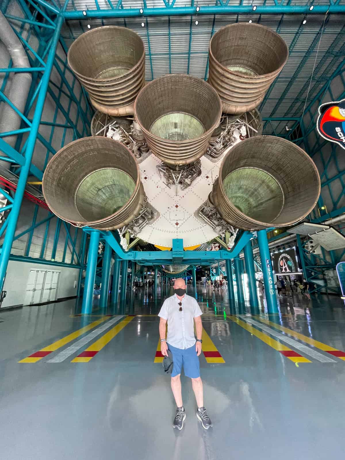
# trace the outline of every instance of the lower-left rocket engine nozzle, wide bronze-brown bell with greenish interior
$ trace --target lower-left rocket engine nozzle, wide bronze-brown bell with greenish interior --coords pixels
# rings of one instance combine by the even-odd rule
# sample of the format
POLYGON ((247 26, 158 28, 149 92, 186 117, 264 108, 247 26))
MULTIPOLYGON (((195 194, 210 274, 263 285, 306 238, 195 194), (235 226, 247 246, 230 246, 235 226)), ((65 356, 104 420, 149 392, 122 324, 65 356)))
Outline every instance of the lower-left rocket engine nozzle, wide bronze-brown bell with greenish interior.
POLYGON ((101 136, 78 139, 59 150, 46 167, 42 190, 58 217, 100 230, 132 222, 146 199, 134 155, 101 136))

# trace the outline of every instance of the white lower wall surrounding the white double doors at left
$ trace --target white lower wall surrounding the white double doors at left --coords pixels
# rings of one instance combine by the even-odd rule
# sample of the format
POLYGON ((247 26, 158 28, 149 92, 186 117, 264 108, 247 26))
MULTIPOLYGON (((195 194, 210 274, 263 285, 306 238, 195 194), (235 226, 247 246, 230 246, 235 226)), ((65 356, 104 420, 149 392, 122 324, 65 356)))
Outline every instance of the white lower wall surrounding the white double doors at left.
POLYGON ((79 269, 10 260, 7 266, 6 280, 4 284, 4 290, 7 291, 7 295, 1 305, 2 308, 14 305, 23 305, 30 270, 60 271, 61 275, 57 291, 57 299, 76 295, 77 288, 74 287, 74 284, 75 281, 76 284, 78 284, 79 269))

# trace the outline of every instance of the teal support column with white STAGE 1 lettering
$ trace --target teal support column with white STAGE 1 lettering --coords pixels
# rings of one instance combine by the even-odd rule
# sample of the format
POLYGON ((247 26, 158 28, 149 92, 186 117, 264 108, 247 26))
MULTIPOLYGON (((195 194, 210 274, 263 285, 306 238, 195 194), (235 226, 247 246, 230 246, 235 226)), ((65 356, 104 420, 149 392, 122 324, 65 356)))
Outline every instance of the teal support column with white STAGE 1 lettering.
POLYGON ((262 266, 262 275, 264 278, 267 311, 269 313, 278 313, 276 289, 274 287, 273 282, 272 263, 270 257, 270 249, 268 247, 267 242, 267 233, 266 230, 259 230, 257 234, 262 266))

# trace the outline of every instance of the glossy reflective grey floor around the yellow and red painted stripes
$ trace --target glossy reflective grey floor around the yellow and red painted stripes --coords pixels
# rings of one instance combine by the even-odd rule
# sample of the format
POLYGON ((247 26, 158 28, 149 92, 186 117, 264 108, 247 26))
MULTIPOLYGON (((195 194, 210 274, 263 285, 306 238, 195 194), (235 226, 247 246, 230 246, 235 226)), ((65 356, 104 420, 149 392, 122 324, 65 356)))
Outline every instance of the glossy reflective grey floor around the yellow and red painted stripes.
POLYGON ((234 322, 225 290, 198 288, 204 328, 225 363, 210 364, 201 355, 205 405, 213 420, 209 431, 196 419, 191 384, 182 377, 187 418, 179 432, 172 427, 175 405, 169 377, 154 363, 155 315, 166 296, 165 290, 156 299, 139 291, 124 310, 109 308, 108 314, 137 316, 91 361, 79 363, 72 358, 105 333, 60 363, 47 361, 91 331, 38 362, 18 361, 99 319, 104 312, 97 309, 97 301, 93 316, 87 317, 74 316, 80 311, 74 300, 0 311, 1 459, 342 458, 345 361, 303 340, 333 347, 335 355, 345 351, 344 304, 339 298, 283 298, 280 314, 271 318, 264 302, 259 318, 249 316, 249 305, 240 311, 247 313, 240 321, 266 342, 273 344, 274 339, 311 361, 295 363, 234 322), (271 323, 259 321, 264 319, 271 323), (259 326, 249 324, 252 320, 259 326), (274 322, 303 336, 274 328, 274 322), (260 329, 260 323, 271 333, 260 329), (300 351, 301 345, 316 357, 300 351), (320 356, 329 362, 319 361, 320 356))

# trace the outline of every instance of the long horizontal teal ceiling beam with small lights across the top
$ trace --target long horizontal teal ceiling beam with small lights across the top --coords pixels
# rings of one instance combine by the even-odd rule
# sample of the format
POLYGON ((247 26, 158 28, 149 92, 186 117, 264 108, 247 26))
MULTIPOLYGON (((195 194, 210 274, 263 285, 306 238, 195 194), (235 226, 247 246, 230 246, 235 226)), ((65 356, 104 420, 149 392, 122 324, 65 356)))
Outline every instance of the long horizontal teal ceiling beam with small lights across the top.
MULTIPOLYGON (((145 3, 145 2, 144 2, 145 3)), ((275 6, 257 6, 253 11, 252 5, 240 6, 200 6, 198 16, 210 14, 341 14, 345 12, 344 5, 315 5, 314 9, 310 11, 309 5, 275 5, 275 6)), ((70 19, 87 19, 87 18, 110 18, 110 17, 155 17, 155 16, 191 16, 196 14, 194 6, 178 6, 173 8, 147 8, 144 6, 143 13, 140 8, 123 8, 119 10, 79 10, 79 11, 66 11, 63 17, 66 20, 70 19), (86 14, 84 14, 86 13, 86 14)))

